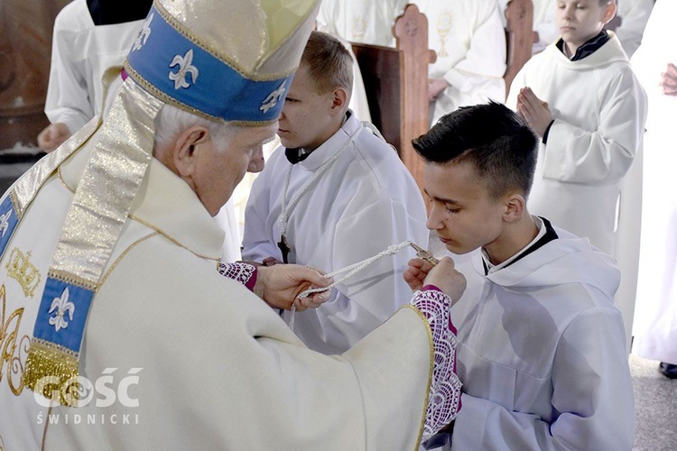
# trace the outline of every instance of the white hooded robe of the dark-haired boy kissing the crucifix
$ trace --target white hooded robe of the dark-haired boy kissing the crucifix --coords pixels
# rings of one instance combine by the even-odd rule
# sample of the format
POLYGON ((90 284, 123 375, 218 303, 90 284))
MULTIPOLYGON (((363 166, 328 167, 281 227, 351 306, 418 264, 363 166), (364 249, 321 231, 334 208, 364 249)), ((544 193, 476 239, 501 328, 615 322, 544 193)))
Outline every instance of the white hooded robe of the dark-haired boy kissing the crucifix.
MULTIPOLYGON (((626 449, 635 409, 611 258, 560 238, 485 276, 481 255, 459 324, 462 409, 450 449, 626 449)), ((448 447, 449 448, 449 447, 448 447)))

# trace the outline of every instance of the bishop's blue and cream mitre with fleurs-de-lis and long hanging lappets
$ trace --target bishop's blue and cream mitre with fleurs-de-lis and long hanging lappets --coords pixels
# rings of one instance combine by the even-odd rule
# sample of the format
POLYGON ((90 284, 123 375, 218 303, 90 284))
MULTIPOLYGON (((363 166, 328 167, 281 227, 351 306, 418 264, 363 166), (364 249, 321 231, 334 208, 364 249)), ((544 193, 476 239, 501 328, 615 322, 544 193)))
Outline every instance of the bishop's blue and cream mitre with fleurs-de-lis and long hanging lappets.
MULTIPOLYGON (((62 389, 79 376, 88 310, 153 158, 154 120, 162 106, 222 123, 274 123, 318 6, 319 0, 154 1, 105 120, 92 119, 0 200, 0 257, 11 257, 8 268, 23 290, 41 299, 22 387, 77 404, 77 394, 64 397, 62 389), (8 244, 38 190, 85 143, 93 151, 49 272, 33 277, 30 253, 14 254, 8 244)), ((120 70, 107 72, 105 91, 120 70)))

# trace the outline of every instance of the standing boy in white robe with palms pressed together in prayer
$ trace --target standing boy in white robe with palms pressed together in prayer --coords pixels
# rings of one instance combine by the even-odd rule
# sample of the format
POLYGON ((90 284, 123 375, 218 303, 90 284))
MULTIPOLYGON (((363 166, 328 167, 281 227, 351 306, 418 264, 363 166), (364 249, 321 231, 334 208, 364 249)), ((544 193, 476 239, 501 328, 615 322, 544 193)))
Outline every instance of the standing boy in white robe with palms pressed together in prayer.
POLYGON ((646 95, 617 36, 603 30, 616 13, 613 0, 558 0, 556 13, 561 39, 527 61, 506 105, 541 138, 529 198, 533 213, 624 259, 617 300, 629 344, 636 270, 625 259, 633 259, 626 250, 639 239, 637 207, 625 202, 632 190, 622 198, 620 216, 617 205, 641 152, 646 95), (627 249, 617 249, 620 233, 627 249))

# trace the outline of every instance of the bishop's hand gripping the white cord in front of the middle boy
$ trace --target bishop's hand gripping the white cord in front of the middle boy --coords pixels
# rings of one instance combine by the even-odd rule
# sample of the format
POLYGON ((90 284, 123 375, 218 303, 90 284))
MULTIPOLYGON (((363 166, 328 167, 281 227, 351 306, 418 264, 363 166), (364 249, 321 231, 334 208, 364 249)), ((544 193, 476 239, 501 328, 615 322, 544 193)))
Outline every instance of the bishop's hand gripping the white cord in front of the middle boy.
POLYGON ((294 305, 297 311, 303 311, 306 308, 318 308, 329 300, 329 290, 296 299, 303 290, 328 287, 333 282, 333 279, 324 277, 314 268, 298 264, 275 264, 259 266, 257 269, 254 292, 273 308, 289 310, 294 305))

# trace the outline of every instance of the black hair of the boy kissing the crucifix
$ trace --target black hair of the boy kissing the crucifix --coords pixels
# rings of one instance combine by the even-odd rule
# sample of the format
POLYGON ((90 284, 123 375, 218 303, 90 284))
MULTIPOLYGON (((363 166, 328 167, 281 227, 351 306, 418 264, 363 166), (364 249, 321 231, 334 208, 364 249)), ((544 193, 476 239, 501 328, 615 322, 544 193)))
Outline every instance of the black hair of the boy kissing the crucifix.
POLYGON ((428 133, 413 140, 425 161, 471 163, 487 182, 492 198, 511 189, 529 196, 536 168, 538 140, 512 110, 489 102, 460 107, 440 118, 428 133))

